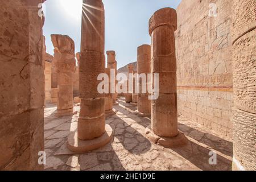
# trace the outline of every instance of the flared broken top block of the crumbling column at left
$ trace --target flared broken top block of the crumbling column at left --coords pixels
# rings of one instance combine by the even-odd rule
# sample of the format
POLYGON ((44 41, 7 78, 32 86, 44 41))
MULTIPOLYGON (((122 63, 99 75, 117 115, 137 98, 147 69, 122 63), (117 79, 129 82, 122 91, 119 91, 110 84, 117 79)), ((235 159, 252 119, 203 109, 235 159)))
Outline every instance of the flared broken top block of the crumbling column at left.
POLYGON ((75 55, 75 43, 68 35, 51 35, 54 53, 70 53, 75 55))

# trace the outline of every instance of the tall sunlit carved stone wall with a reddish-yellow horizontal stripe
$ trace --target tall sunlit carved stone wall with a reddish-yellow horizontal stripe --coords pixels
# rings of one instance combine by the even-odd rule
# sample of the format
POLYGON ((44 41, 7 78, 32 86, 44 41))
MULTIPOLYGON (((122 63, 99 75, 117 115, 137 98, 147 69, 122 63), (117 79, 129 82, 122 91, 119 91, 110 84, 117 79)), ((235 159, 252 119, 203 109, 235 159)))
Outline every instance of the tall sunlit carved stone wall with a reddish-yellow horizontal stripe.
POLYGON ((177 7, 176 31, 179 114, 229 137, 233 131, 231 2, 183 0, 177 7))

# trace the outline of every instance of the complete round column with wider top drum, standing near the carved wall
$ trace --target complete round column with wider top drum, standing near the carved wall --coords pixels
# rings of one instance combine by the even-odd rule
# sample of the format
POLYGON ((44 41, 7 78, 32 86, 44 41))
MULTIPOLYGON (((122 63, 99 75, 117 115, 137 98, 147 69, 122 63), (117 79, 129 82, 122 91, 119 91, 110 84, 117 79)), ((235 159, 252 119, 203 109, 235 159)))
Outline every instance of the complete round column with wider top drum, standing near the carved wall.
POLYGON ((151 129, 160 137, 158 143, 168 147, 185 141, 177 128, 176 29, 174 9, 160 9, 150 18, 151 73, 159 74, 159 97, 151 101, 151 129))

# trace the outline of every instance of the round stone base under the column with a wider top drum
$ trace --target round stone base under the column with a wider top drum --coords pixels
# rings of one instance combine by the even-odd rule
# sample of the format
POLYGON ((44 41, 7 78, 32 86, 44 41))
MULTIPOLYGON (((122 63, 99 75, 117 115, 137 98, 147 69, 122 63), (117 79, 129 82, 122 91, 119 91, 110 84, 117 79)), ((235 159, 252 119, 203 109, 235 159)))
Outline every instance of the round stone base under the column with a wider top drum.
POLYGON ((145 129, 146 137, 153 143, 159 144, 160 146, 170 148, 170 147, 179 147, 187 144, 188 139, 181 132, 176 137, 159 137, 151 130, 151 127, 148 126, 145 129))

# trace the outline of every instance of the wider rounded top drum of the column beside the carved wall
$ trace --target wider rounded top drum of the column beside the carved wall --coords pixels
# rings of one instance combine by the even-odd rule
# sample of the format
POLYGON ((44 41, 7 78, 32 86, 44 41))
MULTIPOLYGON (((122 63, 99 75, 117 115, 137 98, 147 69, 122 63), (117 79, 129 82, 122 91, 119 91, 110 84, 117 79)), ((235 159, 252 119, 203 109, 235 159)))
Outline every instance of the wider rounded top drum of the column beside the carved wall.
POLYGON ((177 30, 177 13, 175 9, 165 7, 156 11, 149 20, 149 34, 151 36, 155 28, 159 26, 172 26, 177 30))

